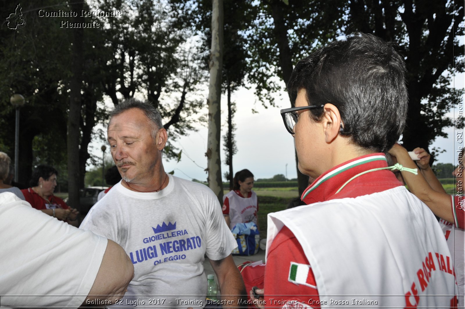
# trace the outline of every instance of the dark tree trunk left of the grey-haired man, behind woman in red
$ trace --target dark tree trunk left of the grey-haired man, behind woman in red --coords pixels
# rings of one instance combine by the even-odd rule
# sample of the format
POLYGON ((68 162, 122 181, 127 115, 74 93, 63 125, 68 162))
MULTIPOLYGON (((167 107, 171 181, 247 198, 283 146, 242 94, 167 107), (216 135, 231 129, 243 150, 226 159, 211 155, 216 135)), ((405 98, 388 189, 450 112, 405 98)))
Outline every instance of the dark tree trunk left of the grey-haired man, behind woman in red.
MULTIPOLYGON (((73 8, 80 12, 84 7, 83 3, 76 4, 73 8)), ((84 22, 83 17, 76 17, 75 22, 84 22)), ((82 81, 82 46, 83 46, 83 29, 76 28, 73 31, 73 67, 70 82, 69 95, 69 115, 68 115, 68 134, 67 134, 67 152, 68 152, 68 204, 73 208, 79 205, 79 139, 80 128, 79 121, 81 117, 81 81, 82 81)))

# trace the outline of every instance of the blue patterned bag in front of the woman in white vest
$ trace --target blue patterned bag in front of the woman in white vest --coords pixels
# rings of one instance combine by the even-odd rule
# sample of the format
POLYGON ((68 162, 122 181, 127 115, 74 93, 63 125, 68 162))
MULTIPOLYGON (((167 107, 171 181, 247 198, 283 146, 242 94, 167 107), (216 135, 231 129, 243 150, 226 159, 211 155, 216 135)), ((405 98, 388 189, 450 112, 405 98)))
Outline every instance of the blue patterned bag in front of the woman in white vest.
POLYGON ((238 246, 232 254, 253 255, 259 252, 260 232, 255 223, 238 223, 231 232, 233 232, 238 246))

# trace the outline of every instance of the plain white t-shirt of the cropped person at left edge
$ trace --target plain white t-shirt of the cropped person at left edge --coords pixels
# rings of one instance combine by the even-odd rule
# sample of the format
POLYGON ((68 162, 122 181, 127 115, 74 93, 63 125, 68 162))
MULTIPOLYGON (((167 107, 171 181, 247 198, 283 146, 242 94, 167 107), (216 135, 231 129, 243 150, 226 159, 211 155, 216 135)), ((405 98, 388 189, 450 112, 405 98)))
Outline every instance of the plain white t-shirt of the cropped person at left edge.
POLYGON ((80 307, 107 242, 0 193, 1 306, 80 307))

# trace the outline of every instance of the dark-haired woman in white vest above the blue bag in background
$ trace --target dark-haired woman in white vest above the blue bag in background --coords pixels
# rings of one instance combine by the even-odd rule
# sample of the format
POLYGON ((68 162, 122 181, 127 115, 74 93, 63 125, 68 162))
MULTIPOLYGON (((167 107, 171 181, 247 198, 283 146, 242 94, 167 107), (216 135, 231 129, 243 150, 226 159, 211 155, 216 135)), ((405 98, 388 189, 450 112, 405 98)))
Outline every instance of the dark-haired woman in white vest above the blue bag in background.
POLYGON ((258 227, 259 204, 252 191, 253 174, 243 169, 234 175, 233 190, 223 196, 223 215, 230 229, 237 223, 253 222, 258 227))

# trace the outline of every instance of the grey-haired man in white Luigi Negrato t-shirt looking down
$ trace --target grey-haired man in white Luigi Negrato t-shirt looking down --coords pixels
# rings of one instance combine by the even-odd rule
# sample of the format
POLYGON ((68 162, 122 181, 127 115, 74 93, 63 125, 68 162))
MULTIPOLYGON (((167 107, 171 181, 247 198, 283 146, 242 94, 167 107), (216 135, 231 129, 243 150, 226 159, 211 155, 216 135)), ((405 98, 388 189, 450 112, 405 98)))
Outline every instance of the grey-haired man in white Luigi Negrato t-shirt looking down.
POLYGON ((167 133, 158 111, 148 102, 122 102, 111 113, 107 133, 123 179, 80 228, 119 243, 132 260, 135 275, 120 305, 205 306, 206 255, 218 277, 222 306, 236 306, 245 295, 231 255, 237 243, 209 188, 164 171, 167 133))

